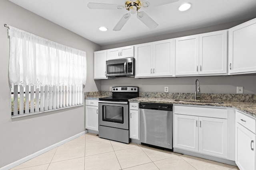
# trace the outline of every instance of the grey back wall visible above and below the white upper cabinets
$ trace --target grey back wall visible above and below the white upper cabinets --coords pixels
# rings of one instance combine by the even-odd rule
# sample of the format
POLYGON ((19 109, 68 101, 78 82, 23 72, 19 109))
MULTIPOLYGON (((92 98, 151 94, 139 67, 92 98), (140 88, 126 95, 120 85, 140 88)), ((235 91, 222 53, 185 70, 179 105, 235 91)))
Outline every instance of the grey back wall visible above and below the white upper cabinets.
MULTIPOLYGON (((255 16, 256 17, 256 16, 255 16)), ((111 49, 116 47, 123 47, 127 45, 135 45, 140 43, 147 43, 163 39, 171 39, 187 35, 194 35, 199 33, 206 33, 211 31, 218 31, 222 29, 229 29, 235 25, 248 21, 240 20, 220 25, 213 25, 200 29, 193 29, 189 31, 182 31, 178 33, 171 33, 167 35, 160 35, 156 37, 148 37, 145 39, 138 39, 118 44, 102 46, 103 49, 111 49)), ((109 86, 139 86, 141 92, 164 92, 164 86, 169 87, 169 92, 186 92, 194 93, 195 80, 200 81, 200 90, 202 93, 223 93, 235 94, 236 86, 244 86, 244 94, 256 94, 256 76, 198 76, 198 77, 174 77, 174 78, 116 78, 113 80, 102 80, 101 90, 108 91, 109 86)))

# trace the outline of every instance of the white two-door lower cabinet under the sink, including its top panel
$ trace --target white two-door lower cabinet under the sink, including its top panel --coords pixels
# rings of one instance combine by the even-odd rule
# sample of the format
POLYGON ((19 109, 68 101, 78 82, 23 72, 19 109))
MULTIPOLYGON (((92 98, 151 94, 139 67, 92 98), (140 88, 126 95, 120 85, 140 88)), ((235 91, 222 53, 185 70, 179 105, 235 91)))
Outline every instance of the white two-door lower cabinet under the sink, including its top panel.
POLYGON ((218 110, 223 109, 184 106, 183 110, 182 106, 180 107, 176 114, 174 106, 174 148, 227 158, 228 121, 224 118, 226 116, 221 118, 211 116, 214 112, 218 113, 218 110), (189 108, 191 115, 188 115, 189 108), (210 117, 201 116, 204 112, 210 117))

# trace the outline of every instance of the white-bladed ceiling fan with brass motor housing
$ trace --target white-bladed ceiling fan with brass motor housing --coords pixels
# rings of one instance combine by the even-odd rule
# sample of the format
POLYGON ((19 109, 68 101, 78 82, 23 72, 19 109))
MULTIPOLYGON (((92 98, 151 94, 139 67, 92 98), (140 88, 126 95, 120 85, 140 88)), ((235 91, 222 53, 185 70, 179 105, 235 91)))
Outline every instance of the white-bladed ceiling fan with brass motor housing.
POLYGON ((173 2, 177 2, 179 0, 126 0, 124 5, 120 4, 103 4, 103 3, 92 3, 89 2, 87 4, 90 9, 104 9, 104 10, 122 10, 126 9, 129 12, 124 14, 122 18, 118 21, 116 26, 113 28, 113 31, 120 31, 124 24, 128 21, 131 14, 137 13, 137 18, 142 21, 148 28, 153 29, 158 26, 158 23, 154 21, 146 12, 138 11, 140 8, 148 9, 155 6, 160 6, 164 4, 170 4, 173 2))

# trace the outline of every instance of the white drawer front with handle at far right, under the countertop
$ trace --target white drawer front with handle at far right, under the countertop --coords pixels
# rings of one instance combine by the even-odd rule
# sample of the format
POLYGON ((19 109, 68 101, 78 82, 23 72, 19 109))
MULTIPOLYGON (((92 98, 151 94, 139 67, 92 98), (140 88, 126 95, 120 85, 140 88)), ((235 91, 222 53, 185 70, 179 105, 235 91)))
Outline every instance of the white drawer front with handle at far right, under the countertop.
POLYGON ((247 129, 252 131, 253 133, 256 133, 255 119, 244 115, 240 111, 236 111, 236 122, 240 123, 241 125, 243 125, 247 129))

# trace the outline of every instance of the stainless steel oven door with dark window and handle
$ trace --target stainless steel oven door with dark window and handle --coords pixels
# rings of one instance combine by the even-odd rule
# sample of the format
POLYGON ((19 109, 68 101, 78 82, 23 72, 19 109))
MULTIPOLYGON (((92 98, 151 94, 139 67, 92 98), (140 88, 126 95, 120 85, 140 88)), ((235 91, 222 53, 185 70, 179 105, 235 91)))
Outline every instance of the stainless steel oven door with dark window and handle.
POLYGON ((128 102, 99 101, 99 125, 128 130, 128 102))

